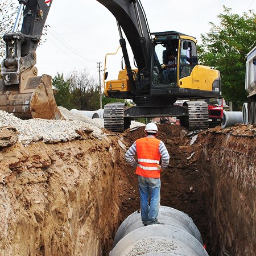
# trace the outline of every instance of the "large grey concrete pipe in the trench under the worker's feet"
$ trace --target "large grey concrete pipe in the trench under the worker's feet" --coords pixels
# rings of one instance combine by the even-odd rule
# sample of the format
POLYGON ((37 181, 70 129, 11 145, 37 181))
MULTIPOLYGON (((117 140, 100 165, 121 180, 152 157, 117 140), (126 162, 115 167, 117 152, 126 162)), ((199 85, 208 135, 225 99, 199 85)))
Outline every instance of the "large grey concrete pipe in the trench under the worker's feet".
POLYGON ((144 226, 141 213, 132 213, 119 226, 109 255, 208 255, 199 230, 187 214, 161 206, 158 221, 164 225, 144 226))

